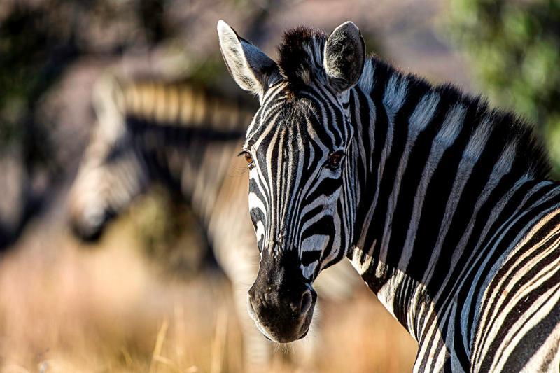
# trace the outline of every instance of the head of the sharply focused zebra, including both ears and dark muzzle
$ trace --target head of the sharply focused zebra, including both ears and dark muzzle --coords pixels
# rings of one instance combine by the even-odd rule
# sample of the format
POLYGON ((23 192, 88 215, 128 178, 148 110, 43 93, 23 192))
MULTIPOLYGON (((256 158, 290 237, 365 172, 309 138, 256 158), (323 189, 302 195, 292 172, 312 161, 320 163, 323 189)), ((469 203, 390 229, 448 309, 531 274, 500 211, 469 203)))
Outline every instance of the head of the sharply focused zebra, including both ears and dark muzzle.
POLYGON ((351 246, 356 211, 349 97, 365 63, 359 29, 346 22, 327 36, 286 32, 278 64, 218 22, 232 78, 258 95, 246 132, 249 210, 260 250, 248 311, 276 342, 307 334, 321 269, 351 246))

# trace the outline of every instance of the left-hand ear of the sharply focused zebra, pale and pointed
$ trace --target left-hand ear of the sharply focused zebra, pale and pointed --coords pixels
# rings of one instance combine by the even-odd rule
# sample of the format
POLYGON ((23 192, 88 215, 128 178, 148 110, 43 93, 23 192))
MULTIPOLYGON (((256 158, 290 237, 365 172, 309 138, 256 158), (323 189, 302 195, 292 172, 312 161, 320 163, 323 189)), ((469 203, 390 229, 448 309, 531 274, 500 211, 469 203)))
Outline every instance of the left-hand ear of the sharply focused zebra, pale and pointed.
POLYGON ((281 78, 278 65, 262 50, 249 43, 223 20, 218 21, 220 50, 233 80, 262 100, 268 87, 281 78))

